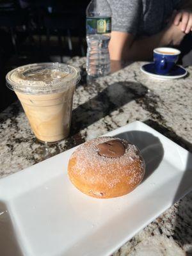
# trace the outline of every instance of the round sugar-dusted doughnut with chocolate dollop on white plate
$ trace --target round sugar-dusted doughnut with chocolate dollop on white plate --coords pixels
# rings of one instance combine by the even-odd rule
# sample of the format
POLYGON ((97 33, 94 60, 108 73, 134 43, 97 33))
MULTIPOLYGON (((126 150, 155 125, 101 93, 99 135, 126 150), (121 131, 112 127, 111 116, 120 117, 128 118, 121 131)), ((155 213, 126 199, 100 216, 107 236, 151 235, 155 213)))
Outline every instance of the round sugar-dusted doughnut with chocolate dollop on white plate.
POLYGON ((131 192, 145 174, 138 148, 126 140, 100 137, 80 145, 68 162, 68 176, 81 192, 113 198, 131 192))

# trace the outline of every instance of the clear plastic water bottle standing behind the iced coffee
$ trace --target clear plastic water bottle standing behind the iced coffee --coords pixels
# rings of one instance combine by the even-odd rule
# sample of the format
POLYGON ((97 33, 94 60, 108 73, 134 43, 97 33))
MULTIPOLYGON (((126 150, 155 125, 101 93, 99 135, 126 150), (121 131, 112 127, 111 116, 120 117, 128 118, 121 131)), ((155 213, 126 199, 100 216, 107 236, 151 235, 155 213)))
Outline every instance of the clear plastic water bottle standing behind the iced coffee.
POLYGON ((110 72, 109 40, 111 8, 107 0, 92 0, 86 9, 86 72, 88 77, 106 76, 110 72))

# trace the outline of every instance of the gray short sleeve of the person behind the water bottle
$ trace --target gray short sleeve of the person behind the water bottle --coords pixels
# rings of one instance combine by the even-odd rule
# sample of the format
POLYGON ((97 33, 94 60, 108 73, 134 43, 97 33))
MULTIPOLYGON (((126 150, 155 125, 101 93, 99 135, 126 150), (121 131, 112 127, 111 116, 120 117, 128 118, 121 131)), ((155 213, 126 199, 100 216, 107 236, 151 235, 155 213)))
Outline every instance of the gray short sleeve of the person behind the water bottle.
POLYGON ((136 35, 142 14, 141 0, 109 0, 112 30, 136 35))

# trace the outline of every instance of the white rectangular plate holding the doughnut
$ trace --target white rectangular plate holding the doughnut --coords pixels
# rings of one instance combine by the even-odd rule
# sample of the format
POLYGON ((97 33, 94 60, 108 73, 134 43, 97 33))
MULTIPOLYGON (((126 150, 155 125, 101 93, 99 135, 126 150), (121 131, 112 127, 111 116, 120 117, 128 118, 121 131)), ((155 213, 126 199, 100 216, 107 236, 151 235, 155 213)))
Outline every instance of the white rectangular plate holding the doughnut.
POLYGON ((141 122, 106 135, 140 148, 140 186, 113 199, 84 195, 67 176, 75 148, 1 179, 1 255, 110 255, 191 190, 192 157, 184 148, 141 122))

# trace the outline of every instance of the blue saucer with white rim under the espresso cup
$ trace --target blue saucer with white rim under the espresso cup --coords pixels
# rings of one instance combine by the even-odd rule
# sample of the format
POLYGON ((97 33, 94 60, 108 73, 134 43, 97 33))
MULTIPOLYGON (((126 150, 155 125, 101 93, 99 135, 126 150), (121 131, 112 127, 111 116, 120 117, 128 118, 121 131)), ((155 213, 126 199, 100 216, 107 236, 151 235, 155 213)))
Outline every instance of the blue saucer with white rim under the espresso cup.
POLYGON ((141 67, 141 71, 154 79, 158 80, 172 80, 179 79, 181 77, 186 76, 188 74, 187 70, 179 65, 175 65, 175 67, 170 71, 167 75, 158 75, 156 74, 154 63, 148 63, 141 67))

